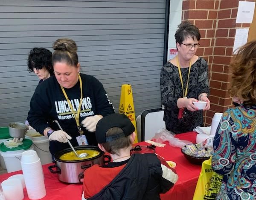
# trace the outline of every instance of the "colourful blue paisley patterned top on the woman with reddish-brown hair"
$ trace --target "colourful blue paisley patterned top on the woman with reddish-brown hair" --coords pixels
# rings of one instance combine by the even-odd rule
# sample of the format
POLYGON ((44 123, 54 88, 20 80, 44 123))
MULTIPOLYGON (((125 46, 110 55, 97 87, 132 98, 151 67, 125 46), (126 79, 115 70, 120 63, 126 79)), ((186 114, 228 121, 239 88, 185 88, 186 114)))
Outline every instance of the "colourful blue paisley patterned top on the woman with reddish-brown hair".
POLYGON ((216 200, 256 200, 256 105, 223 114, 213 149, 212 168, 224 175, 216 200))

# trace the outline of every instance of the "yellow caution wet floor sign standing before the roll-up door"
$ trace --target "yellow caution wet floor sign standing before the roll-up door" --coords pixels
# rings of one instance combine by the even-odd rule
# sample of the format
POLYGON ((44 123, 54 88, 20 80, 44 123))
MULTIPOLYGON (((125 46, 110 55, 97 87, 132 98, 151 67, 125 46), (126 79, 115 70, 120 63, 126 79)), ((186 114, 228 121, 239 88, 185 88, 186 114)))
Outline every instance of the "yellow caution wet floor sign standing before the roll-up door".
POLYGON ((137 131, 136 131, 134 103, 133 103, 131 85, 129 84, 122 85, 120 104, 119 104, 119 113, 127 115, 131 120, 131 122, 133 123, 135 127, 135 133, 136 133, 134 143, 137 143, 138 137, 137 137, 137 131))

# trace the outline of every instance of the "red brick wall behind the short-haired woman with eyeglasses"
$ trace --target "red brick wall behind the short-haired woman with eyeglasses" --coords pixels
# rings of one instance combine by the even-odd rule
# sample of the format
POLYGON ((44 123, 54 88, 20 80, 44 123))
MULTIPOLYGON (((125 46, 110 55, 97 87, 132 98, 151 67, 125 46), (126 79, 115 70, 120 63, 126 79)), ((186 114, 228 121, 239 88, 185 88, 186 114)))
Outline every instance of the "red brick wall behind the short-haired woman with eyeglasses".
POLYGON ((200 30, 201 46, 196 54, 209 64, 211 108, 204 114, 206 125, 211 124, 215 112, 232 106, 229 63, 236 28, 250 27, 248 23, 236 24, 238 4, 239 0, 183 0, 182 20, 189 20, 200 30))

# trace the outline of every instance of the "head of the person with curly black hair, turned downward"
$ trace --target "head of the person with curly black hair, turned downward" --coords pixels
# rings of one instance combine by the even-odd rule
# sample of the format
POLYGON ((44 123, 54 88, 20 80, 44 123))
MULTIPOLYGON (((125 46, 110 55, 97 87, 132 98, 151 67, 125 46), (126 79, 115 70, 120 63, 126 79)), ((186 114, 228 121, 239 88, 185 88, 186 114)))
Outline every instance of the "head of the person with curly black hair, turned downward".
POLYGON ((35 47, 27 60, 29 72, 34 72, 40 79, 39 83, 53 75, 52 52, 45 48, 35 47))

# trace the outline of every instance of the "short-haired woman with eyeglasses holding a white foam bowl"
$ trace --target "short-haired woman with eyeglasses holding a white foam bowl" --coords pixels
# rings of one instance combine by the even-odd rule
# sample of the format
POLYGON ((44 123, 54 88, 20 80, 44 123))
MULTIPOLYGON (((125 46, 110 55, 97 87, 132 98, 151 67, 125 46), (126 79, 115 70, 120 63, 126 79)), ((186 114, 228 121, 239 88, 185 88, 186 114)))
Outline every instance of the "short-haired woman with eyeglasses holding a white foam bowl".
POLYGON ((160 91, 165 107, 163 120, 166 129, 175 134, 204 126, 203 110, 193 104, 206 101, 209 110, 208 64, 195 55, 201 38, 198 28, 189 22, 180 23, 175 33, 178 54, 162 68, 160 91))

